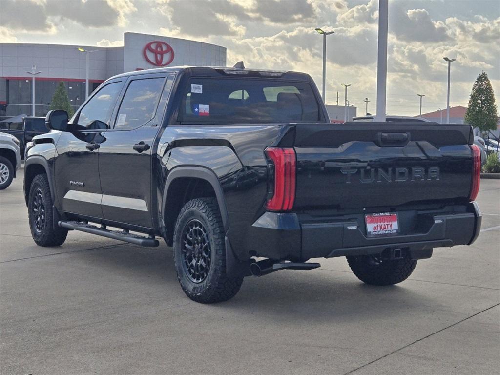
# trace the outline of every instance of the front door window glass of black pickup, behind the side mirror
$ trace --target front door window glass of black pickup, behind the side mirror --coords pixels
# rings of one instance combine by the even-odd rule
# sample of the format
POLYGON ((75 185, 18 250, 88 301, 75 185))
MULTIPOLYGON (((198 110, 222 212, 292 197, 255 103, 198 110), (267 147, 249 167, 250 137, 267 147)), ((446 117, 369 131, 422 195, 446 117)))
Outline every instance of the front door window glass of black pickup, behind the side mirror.
POLYGON ((114 103, 120 93, 121 82, 112 82, 102 87, 81 109, 77 124, 80 129, 109 129, 114 103))

